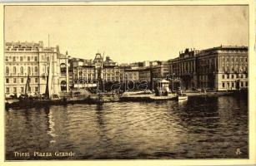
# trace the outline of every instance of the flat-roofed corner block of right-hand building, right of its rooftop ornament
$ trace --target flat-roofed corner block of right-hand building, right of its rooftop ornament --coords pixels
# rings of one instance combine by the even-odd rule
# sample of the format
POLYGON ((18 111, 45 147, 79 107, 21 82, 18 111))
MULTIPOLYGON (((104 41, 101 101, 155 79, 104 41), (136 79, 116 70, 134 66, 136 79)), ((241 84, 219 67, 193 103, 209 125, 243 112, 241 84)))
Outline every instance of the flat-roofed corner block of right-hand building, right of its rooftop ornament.
POLYGON ((216 90, 248 88, 248 47, 219 46, 198 53, 198 86, 216 90))

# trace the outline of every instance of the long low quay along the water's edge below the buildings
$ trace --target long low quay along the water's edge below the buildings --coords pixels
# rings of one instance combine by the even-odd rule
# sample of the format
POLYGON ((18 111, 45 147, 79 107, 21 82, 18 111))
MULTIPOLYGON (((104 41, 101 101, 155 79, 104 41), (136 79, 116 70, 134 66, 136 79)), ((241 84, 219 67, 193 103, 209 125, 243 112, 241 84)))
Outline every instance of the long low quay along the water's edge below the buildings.
MULTIPOLYGON (((186 92, 188 98, 191 97, 218 97, 218 96, 230 96, 230 95, 238 95, 238 96, 247 96, 247 93, 236 92, 236 91, 218 91, 218 92, 186 92)), ((152 102, 157 100, 175 100, 175 94, 168 94, 166 96, 156 96, 154 93, 151 94, 139 94, 136 95, 134 92, 131 92, 131 95, 113 95, 113 94, 102 94, 99 98, 98 95, 88 95, 83 99, 69 99, 62 98, 60 100, 12 100, 11 102, 6 100, 5 107, 6 109, 19 107, 19 108, 27 108, 27 107, 43 107, 50 105, 68 105, 68 104, 87 104, 87 105, 97 105, 108 102, 123 102, 123 101, 135 101, 135 102, 152 102)))

